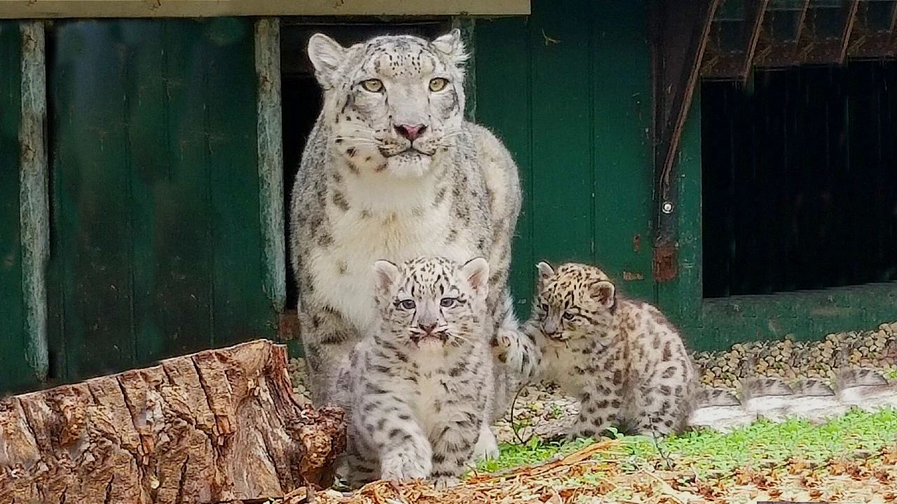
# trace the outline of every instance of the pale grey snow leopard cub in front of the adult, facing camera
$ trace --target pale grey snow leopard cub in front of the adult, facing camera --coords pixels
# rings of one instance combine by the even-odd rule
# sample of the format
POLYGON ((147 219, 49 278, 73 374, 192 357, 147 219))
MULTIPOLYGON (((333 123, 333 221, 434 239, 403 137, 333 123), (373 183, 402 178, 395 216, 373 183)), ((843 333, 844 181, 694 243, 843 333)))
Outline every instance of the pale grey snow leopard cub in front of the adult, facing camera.
POLYGON ((454 484, 498 452, 488 425, 477 444, 493 407, 489 265, 418 257, 374 269, 379 329, 353 347, 332 391, 349 424, 346 479, 454 484))

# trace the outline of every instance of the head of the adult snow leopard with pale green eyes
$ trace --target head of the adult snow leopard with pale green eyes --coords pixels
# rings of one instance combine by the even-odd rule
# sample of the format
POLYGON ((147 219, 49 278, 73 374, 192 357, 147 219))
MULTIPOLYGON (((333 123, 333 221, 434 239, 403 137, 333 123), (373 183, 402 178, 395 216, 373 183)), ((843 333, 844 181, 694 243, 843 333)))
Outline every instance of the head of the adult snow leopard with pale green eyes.
POLYGON ((331 148, 353 171, 422 177, 460 135, 467 57, 460 36, 457 29, 432 41, 383 36, 350 48, 321 33, 309 39, 331 148))

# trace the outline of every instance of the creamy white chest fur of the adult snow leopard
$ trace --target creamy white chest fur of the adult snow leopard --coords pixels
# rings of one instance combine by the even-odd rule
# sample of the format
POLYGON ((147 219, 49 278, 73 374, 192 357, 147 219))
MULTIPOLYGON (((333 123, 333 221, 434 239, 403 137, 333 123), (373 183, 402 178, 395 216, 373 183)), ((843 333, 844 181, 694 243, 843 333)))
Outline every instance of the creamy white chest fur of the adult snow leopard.
POLYGON ((473 258, 475 245, 464 233, 445 244, 454 223, 448 201, 434 204, 436 182, 435 176, 350 176, 343 188, 349 209, 328 207, 333 243, 313 249, 308 258, 315 295, 360 331, 367 331, 376 317, 374 262, 426 255, 473 258))

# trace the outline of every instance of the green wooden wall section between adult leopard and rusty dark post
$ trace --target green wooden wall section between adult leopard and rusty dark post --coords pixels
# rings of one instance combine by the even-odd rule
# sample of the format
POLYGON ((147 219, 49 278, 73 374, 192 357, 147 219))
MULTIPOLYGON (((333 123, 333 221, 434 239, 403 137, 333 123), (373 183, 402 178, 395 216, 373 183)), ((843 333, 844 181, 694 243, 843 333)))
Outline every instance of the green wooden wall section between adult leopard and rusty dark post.
POLYGON ((526 316, 536 262, 602 266, 656 299, 648 0, 534 0, 475 21, 475 119, 521 171, 512 288, 526 316))

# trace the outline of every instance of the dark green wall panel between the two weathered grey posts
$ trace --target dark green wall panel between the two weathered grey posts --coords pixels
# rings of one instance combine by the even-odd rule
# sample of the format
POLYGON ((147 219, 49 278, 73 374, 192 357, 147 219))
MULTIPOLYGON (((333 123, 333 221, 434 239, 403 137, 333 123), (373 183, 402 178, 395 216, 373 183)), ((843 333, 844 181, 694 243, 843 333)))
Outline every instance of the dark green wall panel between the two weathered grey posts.
POLYGON ((51 376, 274 335, 252 20, 48 32, 51 376))

